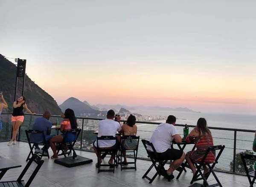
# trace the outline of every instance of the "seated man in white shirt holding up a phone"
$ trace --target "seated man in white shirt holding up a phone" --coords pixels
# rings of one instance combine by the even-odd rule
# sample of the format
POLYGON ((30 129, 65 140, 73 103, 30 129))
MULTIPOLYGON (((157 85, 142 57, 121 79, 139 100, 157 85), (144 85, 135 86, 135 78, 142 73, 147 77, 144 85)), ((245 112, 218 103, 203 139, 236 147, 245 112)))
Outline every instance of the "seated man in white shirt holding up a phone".
MULTIPOLYGON (((117 116, 117 122, 115 122, 113 119, 115 117, 115 112, 113 110, 109 110, 107 113, 107 119, 104 119, 99 122, 99 133, 98 137, 100 136, 116 136, 116 131, 121 131, 121 125, 119 123, 121 116, 117 116)), ((99 145, 97 145, 97 141, 95 140, 93 142, 93 149, 96 153, 96 156, 98 156, 97 148, 111 148, 111 149, 119 149, 119 142, 118 140, 99 140, 99 145)), ((102 162, 102 160, 100 161, 102 162)), ((108 161, 108 164, 113 164, 113 155, 111 156, 110 160, 108 161)), ((98 167, 98 163, 96 163, 96 167, 98 167)))

